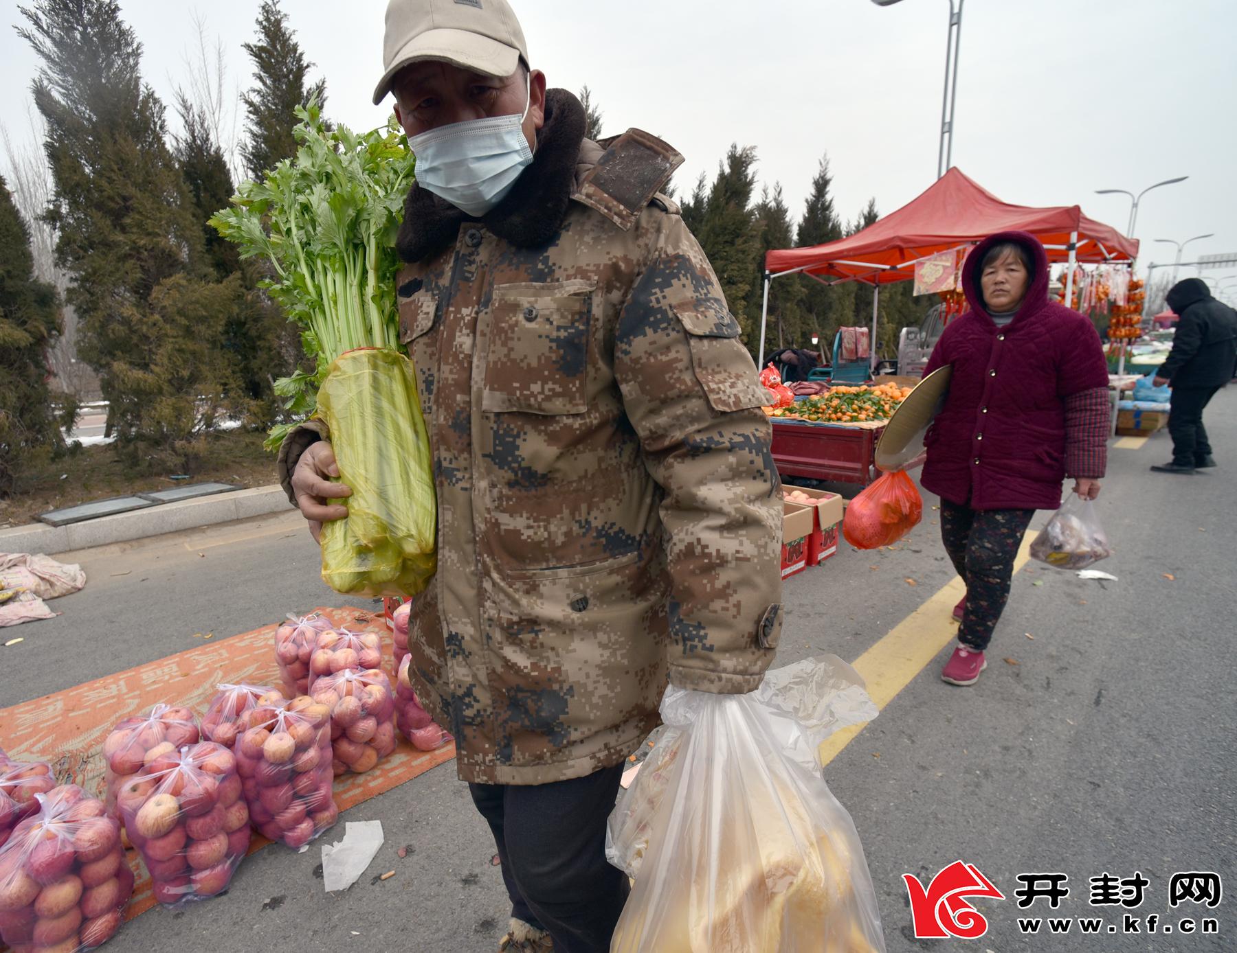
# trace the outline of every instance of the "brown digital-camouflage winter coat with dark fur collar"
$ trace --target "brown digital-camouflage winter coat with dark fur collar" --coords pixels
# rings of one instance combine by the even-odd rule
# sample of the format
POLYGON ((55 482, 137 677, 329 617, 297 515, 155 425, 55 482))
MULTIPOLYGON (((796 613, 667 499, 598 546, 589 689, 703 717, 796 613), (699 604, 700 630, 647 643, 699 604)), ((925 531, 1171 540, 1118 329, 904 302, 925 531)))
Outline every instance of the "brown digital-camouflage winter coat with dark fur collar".
POLYGON ((468 781, 617 764, 667 674, 752 691, 781 634, 767 392, 658 192, 682 157, 640 130, 604 146, 552 90, 502 204, 471 221, 414 188, 400 236, 438 491, 409 674, 468 781))

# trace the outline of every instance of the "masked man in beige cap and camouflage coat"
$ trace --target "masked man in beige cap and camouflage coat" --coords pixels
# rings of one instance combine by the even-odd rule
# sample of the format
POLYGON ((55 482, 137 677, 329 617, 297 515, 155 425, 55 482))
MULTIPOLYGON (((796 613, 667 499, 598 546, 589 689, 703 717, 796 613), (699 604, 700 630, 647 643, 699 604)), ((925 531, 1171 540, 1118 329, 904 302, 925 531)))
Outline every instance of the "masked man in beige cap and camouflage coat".
MULTIPOLYGON (((667 677, 752 691, 781 634, 768 396, 659 192, 682 157, 640 130, 584 138, 506 0, 392 0, 385 59, 375 101, 395 93, 417 153, 398 300, 438 493, 411 681, 497 842, 500 948, 606 951, 627 894, 606 816, 667 677), (517 122, 532 161, 491 190, 517 122), (439 162, 434 138, 468 158, 474 131, 475 164, 439 162)), ((280 455, 314 529, 346 514, 325 436, 280 455)))

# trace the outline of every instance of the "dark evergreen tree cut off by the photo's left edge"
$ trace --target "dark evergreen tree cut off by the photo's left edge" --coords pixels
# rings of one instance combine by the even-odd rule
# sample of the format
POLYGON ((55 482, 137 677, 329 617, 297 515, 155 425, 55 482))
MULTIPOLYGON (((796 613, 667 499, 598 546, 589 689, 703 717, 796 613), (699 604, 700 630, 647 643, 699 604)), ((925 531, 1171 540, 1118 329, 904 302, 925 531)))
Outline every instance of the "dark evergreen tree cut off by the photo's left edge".
POLYGON ((47 388, 59 330, 56 288, 35 278, 30 230, 0 178, 0 497, 31 451, 63 443, 47 388))

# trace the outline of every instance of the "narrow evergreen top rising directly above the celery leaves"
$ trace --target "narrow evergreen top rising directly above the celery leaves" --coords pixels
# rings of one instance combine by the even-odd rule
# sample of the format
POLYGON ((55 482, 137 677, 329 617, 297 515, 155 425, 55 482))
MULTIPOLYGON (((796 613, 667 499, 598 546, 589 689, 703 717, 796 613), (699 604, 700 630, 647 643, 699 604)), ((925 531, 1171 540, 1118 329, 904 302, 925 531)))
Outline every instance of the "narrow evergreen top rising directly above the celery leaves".
POLYGON ((257 14, 257 40, 242 46, 254 61, 255 85, 241 96, 249 136, 241 155, 250 176, 261 182, 268 168, 296 153, 292 129, 297 117, 292 110, 310 99, 325 105, 327 80, 308 84, 313 63, 306 59, 278 0, 263 0, 257 14))

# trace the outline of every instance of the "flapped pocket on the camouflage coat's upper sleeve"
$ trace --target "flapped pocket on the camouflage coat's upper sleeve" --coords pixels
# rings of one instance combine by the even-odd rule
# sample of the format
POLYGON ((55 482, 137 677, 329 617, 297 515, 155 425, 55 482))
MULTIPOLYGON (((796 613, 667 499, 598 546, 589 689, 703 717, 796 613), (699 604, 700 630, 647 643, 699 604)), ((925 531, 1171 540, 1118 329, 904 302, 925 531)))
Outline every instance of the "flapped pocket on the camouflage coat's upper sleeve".
POLYGON ((688 335, 691 370, 709 398, 722 413, 769 403, 751 355, 738 340, 738 321, 715 298, 698 298, 674 305, 688 335))

